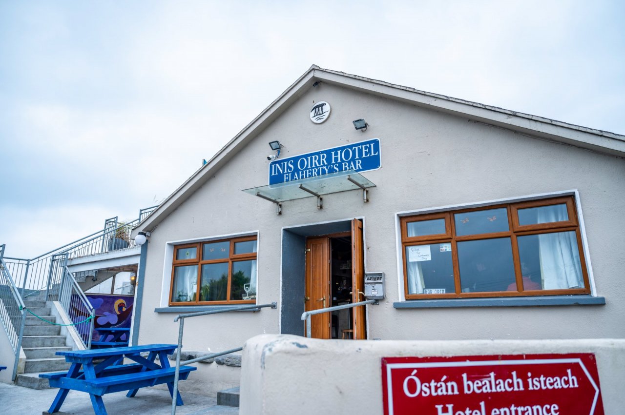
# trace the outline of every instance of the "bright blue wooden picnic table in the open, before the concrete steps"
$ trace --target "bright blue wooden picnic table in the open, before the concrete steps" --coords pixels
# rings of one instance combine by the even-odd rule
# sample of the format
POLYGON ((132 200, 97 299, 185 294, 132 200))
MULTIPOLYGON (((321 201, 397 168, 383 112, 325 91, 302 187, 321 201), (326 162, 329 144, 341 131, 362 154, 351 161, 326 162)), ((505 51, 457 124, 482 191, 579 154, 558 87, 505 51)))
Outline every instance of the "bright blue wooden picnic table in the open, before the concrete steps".
MULTIPOLYGON (((70 390, 89 394, 96 415, 106 415, 102 396, 107 393, 128 391, 128 398, 136 395, 139 388, 166 383, 173 398, 174 374, 176 368, 169 366, 168 354, 172 354, 176 344, 143 344, 106 349, 58 351, 71 363, 67 372, 42 373, 40 378, 49 379, 51 388, 60 388, 50 406, 49 413, 58 412, 70 390), (148 352, 144 358, 141 353, 148 352), (160 365, 155 363, 158 356, 160 365), (123 358, 134 361, 131 364, 117 364, 123 358), (101 361, 99 361, 101 360, 101 361), (95 361, 99 361, 96 363, 95 361)), ((179 379, 185 380, 193 366, 181 366, 179 379)), ((176 404, 182 405, 180 393, 176 404)))

